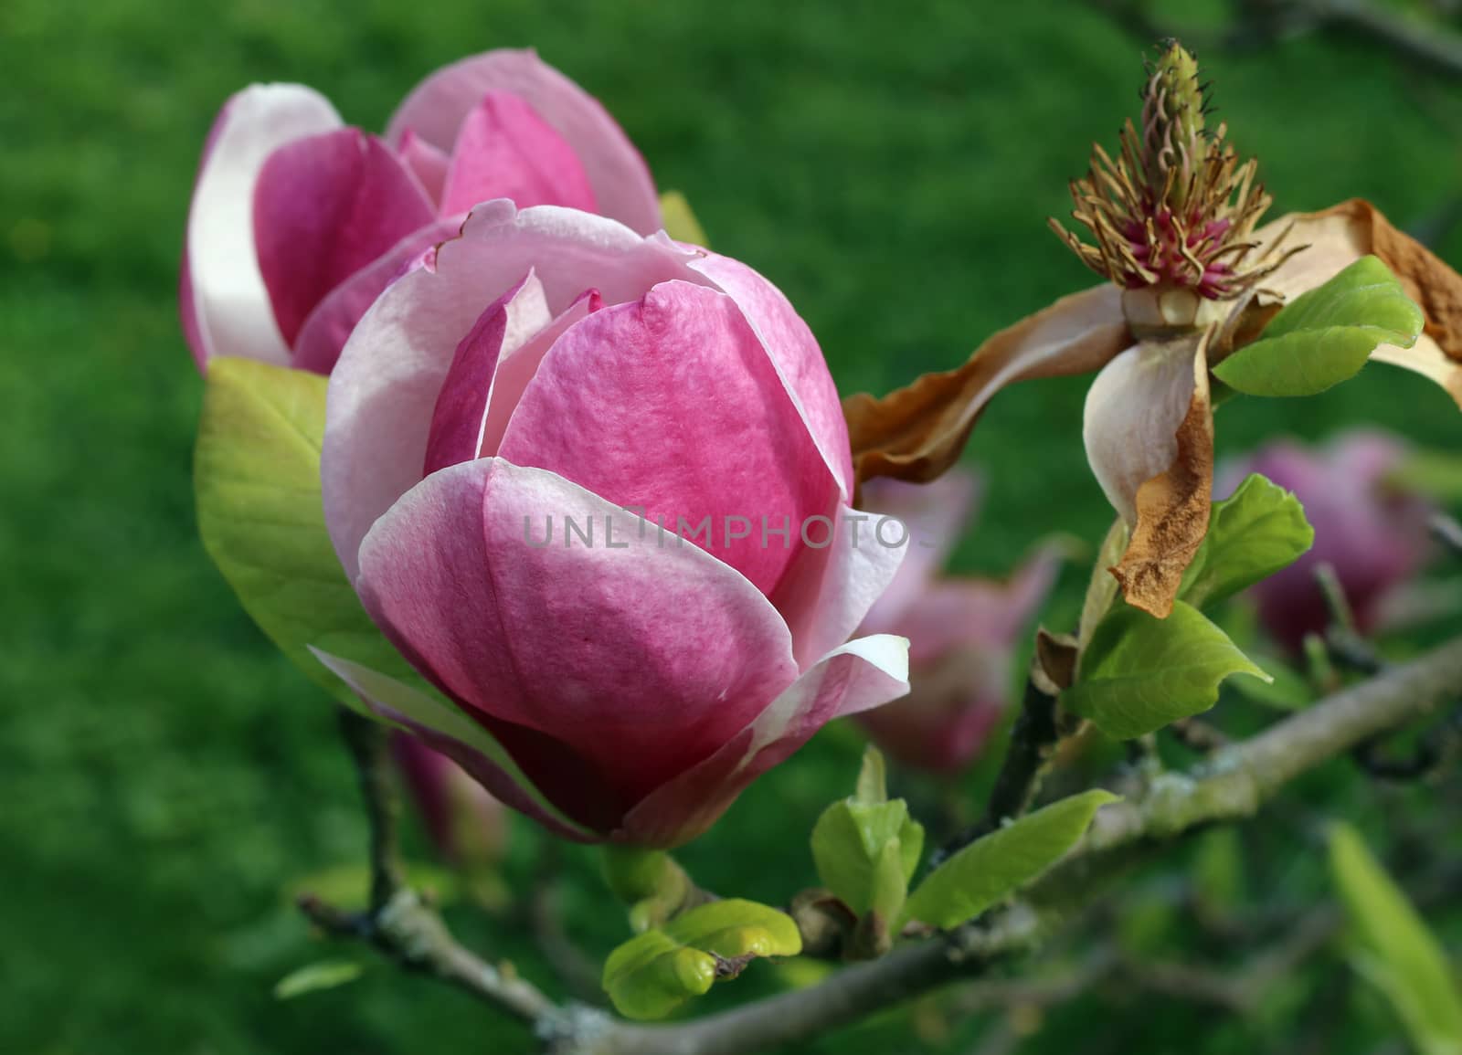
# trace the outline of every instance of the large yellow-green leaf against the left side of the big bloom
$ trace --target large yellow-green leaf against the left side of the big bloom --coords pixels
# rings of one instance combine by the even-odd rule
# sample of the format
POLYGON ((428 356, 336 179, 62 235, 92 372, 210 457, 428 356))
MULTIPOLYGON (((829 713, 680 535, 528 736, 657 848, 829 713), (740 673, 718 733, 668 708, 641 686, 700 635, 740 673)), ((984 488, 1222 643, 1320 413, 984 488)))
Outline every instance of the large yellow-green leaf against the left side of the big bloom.
POLYGON ((425 690, 361 608, 320 504, 326 378, 254 359, 209 364, 193 457, 203 548, 244 611, 336 700, 355 694, 316 646, 425 690))

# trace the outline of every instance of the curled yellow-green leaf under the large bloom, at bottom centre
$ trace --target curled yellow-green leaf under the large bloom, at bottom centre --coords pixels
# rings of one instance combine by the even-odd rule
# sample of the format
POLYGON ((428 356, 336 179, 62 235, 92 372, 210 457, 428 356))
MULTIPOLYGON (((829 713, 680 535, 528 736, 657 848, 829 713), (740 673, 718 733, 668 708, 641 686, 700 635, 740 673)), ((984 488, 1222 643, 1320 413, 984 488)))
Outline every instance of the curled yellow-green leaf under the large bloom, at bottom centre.
POLYGON ((610 953, 604 991, 627 1018, 664 1018, 753 959, 797 956, 803 937, 787 913, 756 902, 711 902, 610 953))

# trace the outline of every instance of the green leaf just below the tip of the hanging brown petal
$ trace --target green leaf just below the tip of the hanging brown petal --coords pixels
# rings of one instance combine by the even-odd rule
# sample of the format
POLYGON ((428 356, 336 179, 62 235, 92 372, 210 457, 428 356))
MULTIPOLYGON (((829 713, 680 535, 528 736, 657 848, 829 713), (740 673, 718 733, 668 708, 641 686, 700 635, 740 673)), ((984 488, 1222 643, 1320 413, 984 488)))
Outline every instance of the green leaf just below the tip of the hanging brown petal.
POLYGON ((1118 605, 1092 634, 1061 703, 1108 736, 1132 739, 1208 710, 1234 674, 1269 679, 1192 605, 1177 602, 1165 620, 1118 605))

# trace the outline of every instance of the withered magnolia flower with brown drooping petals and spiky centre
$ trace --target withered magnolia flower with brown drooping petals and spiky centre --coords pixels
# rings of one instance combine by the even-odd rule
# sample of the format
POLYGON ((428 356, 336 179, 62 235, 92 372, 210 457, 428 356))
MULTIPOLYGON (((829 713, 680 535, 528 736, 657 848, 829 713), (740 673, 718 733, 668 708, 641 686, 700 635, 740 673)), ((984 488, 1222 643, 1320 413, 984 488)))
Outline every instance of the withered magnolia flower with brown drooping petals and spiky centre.
POLYGON ((1140 133, 1129 121, 1120 156, 1095 148, 1091 172, 1072 186, 1073 215, 1096 244, 1053 221, 1107 285, 996 333, 956 370, 845 402, 860 479, 927 481, 953 463, 1006 384, 1099 371, 1082 435, 1130 529, 1113 574, 1129 603, 1159 617, 1208 530, 1209 368, 1251 343, 1281 302, 1374 254, 1427 323, 1411 346, 1383 343, 1370 358, 1433 378, 1462 405, 1462 276, 1361 200, 1257 226, 1269 196, 1225 129, 1205 130, 1196 76, 1192 57, 1170 45, 1143 94, 1140 133))

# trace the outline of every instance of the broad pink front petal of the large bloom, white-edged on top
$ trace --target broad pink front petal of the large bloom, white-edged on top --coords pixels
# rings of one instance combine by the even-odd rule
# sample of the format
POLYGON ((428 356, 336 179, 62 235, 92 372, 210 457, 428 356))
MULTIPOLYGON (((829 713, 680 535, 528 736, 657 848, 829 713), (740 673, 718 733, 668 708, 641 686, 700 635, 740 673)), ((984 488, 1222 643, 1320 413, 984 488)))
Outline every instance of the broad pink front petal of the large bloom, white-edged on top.
MULTIPOLYGON (((436 472, 360 557, 367 611, 423 674, 561 742, 626 802, 709 757, 797 677, 787 627, 744 579, 551 472, 501 459, 436 472), (537 545, 545 517, 557 533, 537 545), (596 542, 566 545, 563 517, 596 542)), ((558 779, 579 776, 535 776, 554 802, 558 779)))

